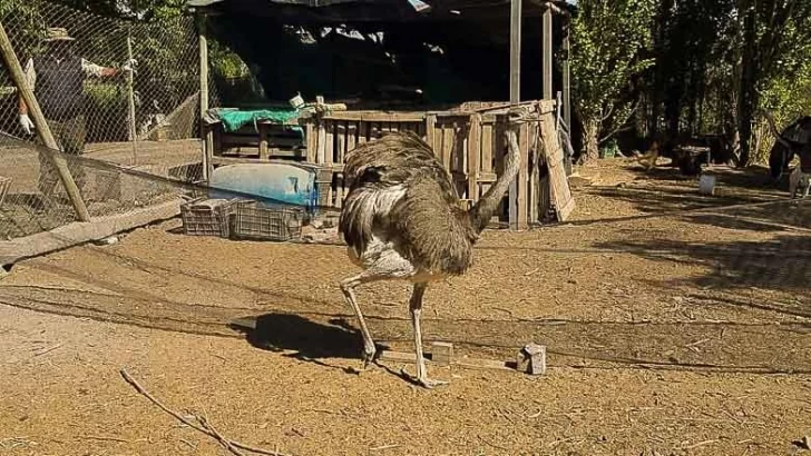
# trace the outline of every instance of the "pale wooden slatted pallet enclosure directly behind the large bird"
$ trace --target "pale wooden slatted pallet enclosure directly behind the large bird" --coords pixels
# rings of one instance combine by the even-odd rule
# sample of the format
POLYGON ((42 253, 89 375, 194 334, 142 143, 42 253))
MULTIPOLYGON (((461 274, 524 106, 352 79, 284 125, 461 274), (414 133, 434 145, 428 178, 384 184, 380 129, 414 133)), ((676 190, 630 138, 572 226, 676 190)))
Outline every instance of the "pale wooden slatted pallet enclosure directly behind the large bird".
MULTIPOLYGON (((555 206, 563 220, 574 208, 563 169, 563 150, 555 128, 555 101, 529 101, 537 116, 522 123, 518 133, 521 167, 517 177, 516 220, 510 226, 526 229, 555 206), (546 146, 546 147, 545 147, 546 146), (541 162, 548 174, 541 178, 541 162)), ((343 163, 356 145, 371 141, 387 131, 413 131, 434 150, 456 182, 459 197, 476 202, 501 172, 507 142, 505 131, 509 106, 438 112, 338 111, 300 119, 305 128, 306 161, 321 166, 321 206, 341 208, 348 192, 343 163)), ((507 217, 502 206, 500 214, 507 217)))

